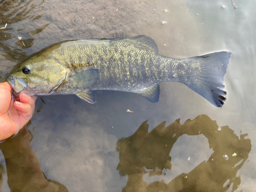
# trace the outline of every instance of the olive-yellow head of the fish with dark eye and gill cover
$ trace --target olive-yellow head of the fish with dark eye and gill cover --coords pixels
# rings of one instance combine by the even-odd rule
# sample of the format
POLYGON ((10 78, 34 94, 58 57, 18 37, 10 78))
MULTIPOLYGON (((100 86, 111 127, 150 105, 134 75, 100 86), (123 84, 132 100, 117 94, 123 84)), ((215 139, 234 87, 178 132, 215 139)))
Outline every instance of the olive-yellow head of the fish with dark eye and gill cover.
POLYGON ((35 60, 33 58, 20 63, 7 76, 7 82, 13 88, 13 96, 50 95, 63 82, 67 71, 56 59, 35 60))

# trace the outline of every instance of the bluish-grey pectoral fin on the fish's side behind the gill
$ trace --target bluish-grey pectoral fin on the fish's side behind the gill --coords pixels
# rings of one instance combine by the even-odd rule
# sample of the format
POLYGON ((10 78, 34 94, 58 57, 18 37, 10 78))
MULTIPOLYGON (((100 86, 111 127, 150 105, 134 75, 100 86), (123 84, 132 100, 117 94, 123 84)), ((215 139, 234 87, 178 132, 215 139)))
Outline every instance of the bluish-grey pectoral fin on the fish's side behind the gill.
POLYGON ((71 82, 76 87, 90 87, 99 79, 98 69, 82 71, 70 77, 71 82))

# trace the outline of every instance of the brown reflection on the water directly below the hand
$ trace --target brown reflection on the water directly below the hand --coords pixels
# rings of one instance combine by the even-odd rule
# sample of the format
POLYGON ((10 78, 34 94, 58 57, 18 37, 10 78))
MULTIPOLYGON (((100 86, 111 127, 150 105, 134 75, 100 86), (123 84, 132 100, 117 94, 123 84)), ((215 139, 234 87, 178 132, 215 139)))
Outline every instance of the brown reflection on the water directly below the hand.
MULTIPOLYGON (((68 191, 62 184, 48 180, 40 169, 40 164, 30 146, 32 135, 25 126, 19 134, 0 144, 11 191, 68 191)), ((1 178, 5 174, 0 167, 1 178)))

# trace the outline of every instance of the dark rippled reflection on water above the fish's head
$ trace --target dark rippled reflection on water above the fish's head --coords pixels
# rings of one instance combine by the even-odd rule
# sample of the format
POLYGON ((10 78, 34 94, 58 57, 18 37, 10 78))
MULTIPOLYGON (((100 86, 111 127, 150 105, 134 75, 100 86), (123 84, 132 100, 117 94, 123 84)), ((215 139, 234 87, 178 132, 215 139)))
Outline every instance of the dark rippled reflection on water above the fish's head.
MULTIPOLYGON (((34 45, 34 38, 31 38, 31 35, 40 33, 50 25, 50 23, 43 26, 40 25, 38 28, 26 32, 26 28, 31 29, 31 25, 25 24, 23 20, 33 21, 42 16, 31 14, 31 11, 36 8, 33 1, 34 0, 0 1, 0 26, 5 26, 7 24, 5 29, 0 30, 0 52, 5 59, 15 63, 19 63, 29 56, 24 49, 31 48, 34 45), (14 43, 18 47, 15 46, 14 43)), ((39 5, 42 3, 44 3, 44 1, 41 1, 39 5)), ((0 60, 4 59, 0 58, 0 60)), ((4 69, 3 65, 1 65, 0 72, 10 69, 10 66, 6 66, 6 69, 4 69)))

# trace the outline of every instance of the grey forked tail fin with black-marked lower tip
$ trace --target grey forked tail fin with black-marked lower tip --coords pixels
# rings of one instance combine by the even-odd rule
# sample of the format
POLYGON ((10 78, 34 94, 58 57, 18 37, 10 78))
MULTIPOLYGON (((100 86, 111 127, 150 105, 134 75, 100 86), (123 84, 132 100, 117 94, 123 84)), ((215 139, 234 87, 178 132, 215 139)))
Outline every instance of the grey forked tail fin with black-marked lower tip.
POLYGON ((223 106, 227 98, 223 78, 230 54, 231 52, 222 51, 188 58, 199 61, 201 73, 194 84, 186 84, 186 86, 202 95, 215 106, 223 106))

